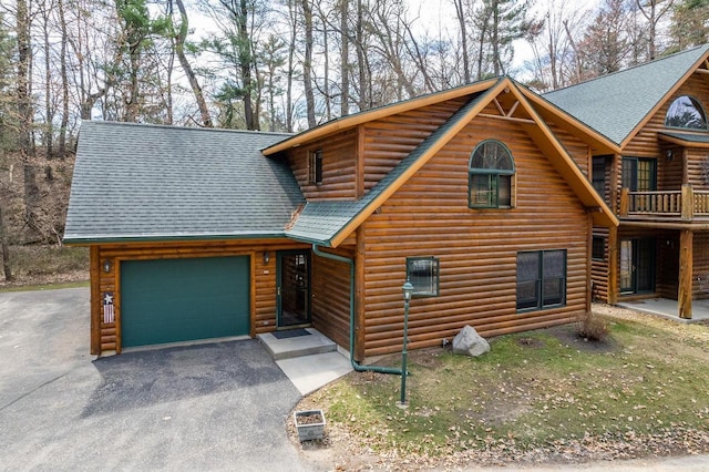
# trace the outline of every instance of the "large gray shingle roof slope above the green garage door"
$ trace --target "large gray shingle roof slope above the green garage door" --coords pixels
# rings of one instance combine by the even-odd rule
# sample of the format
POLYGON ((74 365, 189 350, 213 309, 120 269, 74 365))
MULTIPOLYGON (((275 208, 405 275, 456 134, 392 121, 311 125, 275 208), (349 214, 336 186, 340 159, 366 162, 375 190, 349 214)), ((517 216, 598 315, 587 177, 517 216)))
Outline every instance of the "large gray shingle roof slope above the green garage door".
POLYGON ((260 150, 288 136, 83 122, 64 240, 282 237, 305 198, 260 150))

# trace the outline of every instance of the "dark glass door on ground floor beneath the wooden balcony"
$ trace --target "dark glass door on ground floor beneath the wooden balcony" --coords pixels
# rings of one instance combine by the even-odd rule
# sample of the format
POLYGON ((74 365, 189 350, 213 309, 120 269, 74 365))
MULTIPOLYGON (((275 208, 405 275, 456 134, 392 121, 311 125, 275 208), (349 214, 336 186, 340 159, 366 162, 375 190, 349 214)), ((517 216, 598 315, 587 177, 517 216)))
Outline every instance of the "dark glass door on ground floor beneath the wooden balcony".
POLYGON ((655 290, 655 239, 620 242, 620 291, 640 294, 655 290))

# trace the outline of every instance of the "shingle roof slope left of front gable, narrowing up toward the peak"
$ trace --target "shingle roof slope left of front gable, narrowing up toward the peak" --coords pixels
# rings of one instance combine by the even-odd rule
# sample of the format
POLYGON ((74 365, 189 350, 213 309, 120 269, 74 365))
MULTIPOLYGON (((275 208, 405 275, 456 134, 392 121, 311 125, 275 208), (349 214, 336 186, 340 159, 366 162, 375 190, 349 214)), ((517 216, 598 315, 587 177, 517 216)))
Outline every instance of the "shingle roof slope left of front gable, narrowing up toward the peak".
POLYGON ((330 240, 345 226, 364 211, 378 196, 387 191, 397 179, 411 167, 425 152, 434 145, 441 136, 481 100, 477 94, 461 106, 439 129, 427 136, 408 156, 392 168, 362 198, 356 202, 308 202, 302 212, 286 235, 299 240, 329 245, 330 240))

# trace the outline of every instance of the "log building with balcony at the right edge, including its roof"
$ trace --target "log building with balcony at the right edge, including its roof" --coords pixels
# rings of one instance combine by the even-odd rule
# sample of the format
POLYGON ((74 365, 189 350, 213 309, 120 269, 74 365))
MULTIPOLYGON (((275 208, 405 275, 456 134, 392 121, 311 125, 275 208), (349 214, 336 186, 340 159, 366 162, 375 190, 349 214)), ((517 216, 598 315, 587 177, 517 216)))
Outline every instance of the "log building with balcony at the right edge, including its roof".
POLYGON ((592 181, 619 218, 594 227, 594 296, 615 304, 709 298, 709 45, 544 98, 618 151, 595 154, 592 181))

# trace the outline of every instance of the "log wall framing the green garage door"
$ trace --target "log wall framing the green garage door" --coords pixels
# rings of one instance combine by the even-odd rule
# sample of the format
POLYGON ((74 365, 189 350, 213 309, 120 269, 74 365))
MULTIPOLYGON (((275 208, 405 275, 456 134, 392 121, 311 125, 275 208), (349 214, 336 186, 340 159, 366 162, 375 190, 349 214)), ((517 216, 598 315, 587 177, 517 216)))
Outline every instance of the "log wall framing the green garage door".
POLYGON ((121 260, 187 257, 251 257, 251 336, 276 328, 276 252, 309 248, 291 240, 216 240, 194 243, 141 243, 92 246, 91 248, 91 317, 92 353, 121 351, 121 260), (264 261, 264 252, 270 260, 264 261), (103 270, 104 261, 111 271, 103 270), (104 324, 101 295, 114 294, 115 322, 104 324), (95 295, 94 295, 95 294, 95 295))

